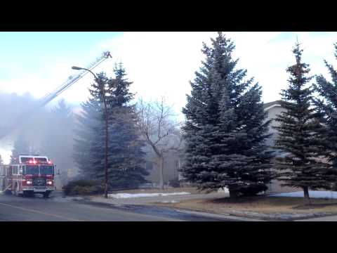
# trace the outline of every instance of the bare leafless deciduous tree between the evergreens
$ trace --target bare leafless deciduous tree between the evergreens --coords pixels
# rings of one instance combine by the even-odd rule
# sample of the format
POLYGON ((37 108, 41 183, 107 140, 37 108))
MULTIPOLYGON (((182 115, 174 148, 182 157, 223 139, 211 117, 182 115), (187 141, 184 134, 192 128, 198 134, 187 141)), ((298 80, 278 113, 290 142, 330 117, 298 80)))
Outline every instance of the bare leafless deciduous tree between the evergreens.
POLYGON ((176 120, 172 105, 167 105, 164 97, 153 102, 140 99, 137 108, 140 133, 157 157, 159 187, 164 189, 164 158, 166 153, 180 150, 183 140, 181 124, 176 120))

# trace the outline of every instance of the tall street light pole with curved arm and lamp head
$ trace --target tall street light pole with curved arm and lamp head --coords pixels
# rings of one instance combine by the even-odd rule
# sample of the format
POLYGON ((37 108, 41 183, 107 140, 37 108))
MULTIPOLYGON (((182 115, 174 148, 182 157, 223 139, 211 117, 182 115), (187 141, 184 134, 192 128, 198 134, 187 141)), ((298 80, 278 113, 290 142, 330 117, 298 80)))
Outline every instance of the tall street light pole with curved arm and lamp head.
POLYGON ((104 111, 105 111, 105 162, 104 162, 104 169, 105 169, 105 189, 104 189, 104 197, 107 198, 107 183, 108 183, 108 171, 107 171, 107 150, 108 150, 108 140, 109 140, 109 135, 108 135, 108 117, 107 117, 107 101, 105 99, 105 87, 104 85, 100 82, 100 79, 96 77, 96 75, 91 71, 88 70, 84 67, 72 67, 73 70, 86 70, 88 72, 91 72, 93 74, 93 77, 95 77, 96 82, 100 86, 101 92, 102 92, 102 99, 103 99, 103 104, 104 104, 104 111))

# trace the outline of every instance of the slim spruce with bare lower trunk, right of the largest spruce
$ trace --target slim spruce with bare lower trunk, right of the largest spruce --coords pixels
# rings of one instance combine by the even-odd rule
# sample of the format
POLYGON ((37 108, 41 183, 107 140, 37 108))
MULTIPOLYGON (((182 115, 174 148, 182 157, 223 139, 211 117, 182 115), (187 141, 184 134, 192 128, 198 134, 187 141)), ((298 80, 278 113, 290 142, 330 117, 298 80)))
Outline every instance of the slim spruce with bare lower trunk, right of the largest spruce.
POLYGON ((277 116, 279 131, 276 148, 283 150, 286 157, 277 159, 279 179, 283 186, 302 188, 305 203, 310 203, 309 189, 330 188, 329 164, 322 159, 326 156, 324 133, 312 108, 313 92, 308 83, 309 65, 302 62, 303 50, 296 44, 293 54, 296 64, 287 68, 290 74, 289 85, 282 90, 282 107, 286 109, 277 116))

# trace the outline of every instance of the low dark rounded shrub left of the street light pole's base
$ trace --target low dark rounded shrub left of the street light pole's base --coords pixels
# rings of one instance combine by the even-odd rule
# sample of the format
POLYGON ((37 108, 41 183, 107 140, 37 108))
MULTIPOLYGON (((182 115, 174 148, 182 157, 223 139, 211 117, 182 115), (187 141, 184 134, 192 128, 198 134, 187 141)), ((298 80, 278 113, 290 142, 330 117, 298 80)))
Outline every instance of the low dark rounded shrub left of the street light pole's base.
POLYGON ((65 195, 88 195, 104 192, 103 183, 100 181, 84 179, 70 181, 67 185, 63 186, 62 189, 65 195))

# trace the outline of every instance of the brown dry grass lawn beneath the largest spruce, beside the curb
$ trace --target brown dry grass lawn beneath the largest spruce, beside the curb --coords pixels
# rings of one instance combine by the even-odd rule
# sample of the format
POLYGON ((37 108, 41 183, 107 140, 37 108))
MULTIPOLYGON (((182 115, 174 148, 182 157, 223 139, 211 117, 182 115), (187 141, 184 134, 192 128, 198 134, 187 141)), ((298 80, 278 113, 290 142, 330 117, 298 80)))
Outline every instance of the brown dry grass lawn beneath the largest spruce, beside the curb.
POLYGON ((228 197, 213 200, 183 200, 178 203, 159 204, 169 207, 201 212, 225 214, 228 212, 275 213, 317 213, 337 214, 337 200, 311 199, 312 205, 303 204, 302 197, 242 197, 233 202, 228 197))

